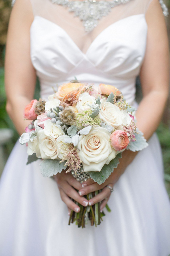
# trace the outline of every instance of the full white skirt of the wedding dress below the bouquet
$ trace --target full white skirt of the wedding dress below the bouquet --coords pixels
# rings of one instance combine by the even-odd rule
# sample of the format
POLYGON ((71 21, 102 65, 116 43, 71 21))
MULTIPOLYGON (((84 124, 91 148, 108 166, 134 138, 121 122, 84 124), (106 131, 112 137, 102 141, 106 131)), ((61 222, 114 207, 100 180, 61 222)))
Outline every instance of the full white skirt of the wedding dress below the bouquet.
POLYGON ((26 165, 26 146, 16 143, 0 180, 1 256, 168 256, 170 203, 154 134, 114 185, 111 212, 85 229, 68 226, 58 186, 26 165))

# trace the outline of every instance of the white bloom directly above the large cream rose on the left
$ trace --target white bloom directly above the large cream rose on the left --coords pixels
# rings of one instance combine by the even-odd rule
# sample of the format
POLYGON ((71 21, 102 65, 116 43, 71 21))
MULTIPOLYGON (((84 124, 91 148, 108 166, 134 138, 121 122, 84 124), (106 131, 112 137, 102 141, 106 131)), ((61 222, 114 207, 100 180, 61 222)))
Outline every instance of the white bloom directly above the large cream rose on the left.
POLYGON ((44 134, 53 138, 58 138, 59 136, 65 135, 63 130, 60 128, 60 125, 53 124, 51 119, 44 122, 44 134))

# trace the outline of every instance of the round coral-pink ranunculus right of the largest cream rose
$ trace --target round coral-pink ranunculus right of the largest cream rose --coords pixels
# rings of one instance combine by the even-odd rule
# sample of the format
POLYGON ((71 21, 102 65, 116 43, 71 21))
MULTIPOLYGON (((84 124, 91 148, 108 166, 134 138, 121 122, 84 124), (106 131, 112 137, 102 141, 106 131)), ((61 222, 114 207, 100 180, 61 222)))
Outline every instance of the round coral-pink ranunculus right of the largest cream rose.
POLYGON ((125 149, 129 144, 129 138, 126 132, 123 132, 121 130, 114 131, 110 135, 110 140, 111 146, 117 151, 125 149))

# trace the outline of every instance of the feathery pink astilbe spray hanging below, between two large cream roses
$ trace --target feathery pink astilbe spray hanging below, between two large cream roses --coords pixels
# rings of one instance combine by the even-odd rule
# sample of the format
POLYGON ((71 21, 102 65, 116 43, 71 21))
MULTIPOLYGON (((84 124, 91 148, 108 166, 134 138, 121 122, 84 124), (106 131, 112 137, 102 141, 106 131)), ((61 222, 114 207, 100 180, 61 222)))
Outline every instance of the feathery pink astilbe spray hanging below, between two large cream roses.
POLYGON ((61 162, 66 161, 65 165, 67 165, 69 168, 66 171, 66 173, 70 171, 74 171, 76 174, 77 170, 80 169, 82 160, 79 158, 77 148, 70 145, 66 151, 66 153, 63 154, 63 158, 61 162))

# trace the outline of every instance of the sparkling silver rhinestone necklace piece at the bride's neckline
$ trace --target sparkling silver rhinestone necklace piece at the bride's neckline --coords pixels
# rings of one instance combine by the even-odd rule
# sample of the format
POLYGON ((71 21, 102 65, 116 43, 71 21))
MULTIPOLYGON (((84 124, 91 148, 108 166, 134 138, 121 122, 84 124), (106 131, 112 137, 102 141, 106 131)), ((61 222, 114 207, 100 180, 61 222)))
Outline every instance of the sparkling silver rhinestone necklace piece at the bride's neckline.
POLYGON ((67 6, 70 12, 75 13, 75 17, 79 17, 80 20, 82 20, 85 31, 90 32, 98 25, 98 20, 100 20, 103 16, 106 16, 111 11, 111 8, 119 4, 126 4, 131 0, 50 1, 55 4, 67 6))

